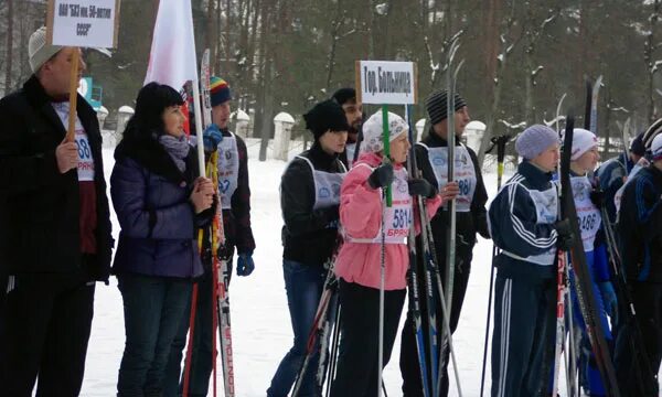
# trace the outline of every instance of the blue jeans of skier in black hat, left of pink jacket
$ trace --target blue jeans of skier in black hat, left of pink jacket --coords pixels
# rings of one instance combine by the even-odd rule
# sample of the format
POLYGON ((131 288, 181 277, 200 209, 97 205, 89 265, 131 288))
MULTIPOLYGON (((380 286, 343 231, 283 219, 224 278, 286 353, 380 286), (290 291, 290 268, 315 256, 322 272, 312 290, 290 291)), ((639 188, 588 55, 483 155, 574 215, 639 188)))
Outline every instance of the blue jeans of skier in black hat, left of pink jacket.
MULTIPOLYGON (((303 265, 293 260, 282 260, 282 276, 287 291, 287 304, 290 311, 295 344, 285 355, 267 390, 268 397, 285 397, 295 384, 297 374, 306 357, 306 345, 310 328, 314 321, 327 269, 319 265, 303 265)), ((301 384, 299 396, 316 396, 314 369, 319 361, 319 351, 314 353, 301 384)))

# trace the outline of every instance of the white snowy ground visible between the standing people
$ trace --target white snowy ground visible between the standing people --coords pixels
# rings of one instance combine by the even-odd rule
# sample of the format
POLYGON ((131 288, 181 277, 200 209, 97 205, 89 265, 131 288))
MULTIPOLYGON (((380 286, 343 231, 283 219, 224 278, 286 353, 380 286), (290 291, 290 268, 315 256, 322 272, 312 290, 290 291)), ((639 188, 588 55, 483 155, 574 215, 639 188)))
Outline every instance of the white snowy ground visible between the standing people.
MULTIPOLYGON (((256 160, 257 150, 257 146, 249 143, 256 270, 248 278, 233 277, 231 287, 235 384, 237 396, 243 397, 266 394, 271 376, 292 341, 282 281, 282 221, 278 200, 278 185, 286 163, 275 160, 259 162, 256 160)), ((104 160, 106 176, 109 178, 114 163, 110 149, 104 150, 104 160)), ((493 196, 495 175, 485 174, 485 183, 488 193, 493 196)), ((113 222, 117 237, 119 226, 115 217, 113 222)), ((455 336, 465 396, 478 396, 480 391, 492 244, 479 237, 473 253, 469 289, 455 336)), ((121 296, 115 278, 108 287, 98 285, 95 310, 82 396, 107 397, 116 393, 125 340, 121 296)), ((384 373, 391 396, 402 395, 398 357, 399 340, 384 373)), ((218 384, 222 385, 221 382, 218 384)), ((488 367, 488 389, 489 385, 488 367)), ((450 395, 457 395, 453 382, 450 395)))

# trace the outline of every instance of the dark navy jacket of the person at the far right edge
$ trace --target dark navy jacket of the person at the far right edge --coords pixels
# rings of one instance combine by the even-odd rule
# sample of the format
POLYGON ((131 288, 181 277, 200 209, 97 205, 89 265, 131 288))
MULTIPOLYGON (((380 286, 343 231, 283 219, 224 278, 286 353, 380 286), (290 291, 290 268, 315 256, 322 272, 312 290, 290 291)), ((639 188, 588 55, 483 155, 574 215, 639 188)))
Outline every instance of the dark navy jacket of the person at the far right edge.
POLYGON ((662 171, 650 165, 628 183, 617 228, 628 279, 662 282, 662 171))

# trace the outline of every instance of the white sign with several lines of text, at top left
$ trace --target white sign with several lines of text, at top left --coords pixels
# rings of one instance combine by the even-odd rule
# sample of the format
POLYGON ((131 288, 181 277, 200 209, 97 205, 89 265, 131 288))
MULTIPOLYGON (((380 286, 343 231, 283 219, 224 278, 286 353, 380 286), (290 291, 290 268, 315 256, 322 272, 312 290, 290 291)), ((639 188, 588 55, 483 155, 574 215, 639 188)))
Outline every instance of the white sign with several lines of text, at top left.
POLYGON ((54 45, 117 46, 119 0, 49 0, 47 41, 54 45))

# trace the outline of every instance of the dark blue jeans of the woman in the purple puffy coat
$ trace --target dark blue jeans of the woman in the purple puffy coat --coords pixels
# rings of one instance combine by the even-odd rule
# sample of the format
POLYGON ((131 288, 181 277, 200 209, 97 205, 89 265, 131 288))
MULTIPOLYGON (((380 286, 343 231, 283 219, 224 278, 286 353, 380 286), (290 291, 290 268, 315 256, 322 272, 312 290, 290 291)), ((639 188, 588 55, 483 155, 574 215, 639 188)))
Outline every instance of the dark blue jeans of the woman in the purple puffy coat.
POLYGON ((117 396, 161 396, 170 346, 191 297, 191 281, 122 273, 127 341, 117 396))

